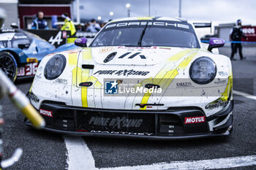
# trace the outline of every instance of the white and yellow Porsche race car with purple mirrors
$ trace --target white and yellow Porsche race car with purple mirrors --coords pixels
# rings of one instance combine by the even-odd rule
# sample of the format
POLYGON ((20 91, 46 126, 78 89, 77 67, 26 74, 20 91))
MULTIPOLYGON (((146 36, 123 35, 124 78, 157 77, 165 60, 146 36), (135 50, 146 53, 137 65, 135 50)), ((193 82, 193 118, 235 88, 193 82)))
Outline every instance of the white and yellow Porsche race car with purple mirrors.
MULTIPOLYGON (((124 18, 86 47, 42 59, 29 90, 45 130, 78 136, 186 139, 228 136, 230 59, 202 47, 181 18, 124 18)), ((30 125, 26 120, 26 124, 30 125)))

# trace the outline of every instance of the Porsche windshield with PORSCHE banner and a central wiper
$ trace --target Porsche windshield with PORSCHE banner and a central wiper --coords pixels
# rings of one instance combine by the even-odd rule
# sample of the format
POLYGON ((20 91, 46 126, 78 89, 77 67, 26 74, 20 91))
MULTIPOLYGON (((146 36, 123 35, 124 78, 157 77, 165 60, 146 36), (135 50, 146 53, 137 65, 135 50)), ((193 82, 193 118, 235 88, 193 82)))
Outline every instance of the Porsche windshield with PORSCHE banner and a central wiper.
POLYGON ((91 43, 99 46, 200 47, 189 23, 171 21, 110 23, 91 43))

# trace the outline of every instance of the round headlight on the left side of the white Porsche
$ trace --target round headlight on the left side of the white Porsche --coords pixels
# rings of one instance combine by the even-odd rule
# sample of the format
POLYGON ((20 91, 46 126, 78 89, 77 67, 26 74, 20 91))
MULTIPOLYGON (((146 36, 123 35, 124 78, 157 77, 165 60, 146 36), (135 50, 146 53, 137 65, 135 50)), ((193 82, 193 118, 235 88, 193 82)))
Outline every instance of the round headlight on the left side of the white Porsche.
POLYGON ((45 78, 53 80, 59 77, 66 66, 66 58, 64 55, 54 55, 45 65, 45 78))

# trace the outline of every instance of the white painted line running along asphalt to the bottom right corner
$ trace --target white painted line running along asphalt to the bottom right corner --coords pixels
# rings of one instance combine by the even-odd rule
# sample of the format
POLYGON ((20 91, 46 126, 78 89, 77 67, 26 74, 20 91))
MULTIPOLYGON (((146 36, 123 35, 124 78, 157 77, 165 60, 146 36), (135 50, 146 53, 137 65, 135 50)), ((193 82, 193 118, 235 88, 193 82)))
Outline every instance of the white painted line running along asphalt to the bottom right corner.
POLYGON ((170 163, 154 163, 144 166, 120 166, 116 168, 107 168, 100 170, 155 170, 155 169, 230 169, 241 166, 255 166, 256 155, 219 158, 200 161, 173 161, 170 163))

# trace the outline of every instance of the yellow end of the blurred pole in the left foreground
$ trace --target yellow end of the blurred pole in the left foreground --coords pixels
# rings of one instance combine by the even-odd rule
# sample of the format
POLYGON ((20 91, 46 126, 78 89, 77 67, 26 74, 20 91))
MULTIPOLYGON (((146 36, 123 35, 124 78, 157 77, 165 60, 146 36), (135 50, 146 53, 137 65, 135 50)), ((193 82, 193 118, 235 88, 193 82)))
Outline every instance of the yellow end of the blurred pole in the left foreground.
POLYGON ((23 107, 23 109, 21 109, 21 112, 23 112, 23 114, 28 117, 34 127, 42 128, 43 126, 45 126, 45 120, 42 118, 41 115, 38 114, 37 110, 34 109, 31 104, 23 107))

